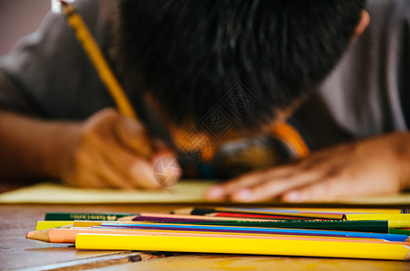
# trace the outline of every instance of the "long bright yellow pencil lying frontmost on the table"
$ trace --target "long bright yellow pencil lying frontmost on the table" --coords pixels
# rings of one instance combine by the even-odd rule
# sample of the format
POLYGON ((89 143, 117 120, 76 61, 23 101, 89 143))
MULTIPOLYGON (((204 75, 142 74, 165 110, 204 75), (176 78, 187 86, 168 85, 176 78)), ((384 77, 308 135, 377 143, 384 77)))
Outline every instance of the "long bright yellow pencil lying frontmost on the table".
POLYGON ((391 242, 335 241, 319 238, 217 238, 78 234, 79 249, 233 253, 300 257, 408 260, 410 247, 391 242))

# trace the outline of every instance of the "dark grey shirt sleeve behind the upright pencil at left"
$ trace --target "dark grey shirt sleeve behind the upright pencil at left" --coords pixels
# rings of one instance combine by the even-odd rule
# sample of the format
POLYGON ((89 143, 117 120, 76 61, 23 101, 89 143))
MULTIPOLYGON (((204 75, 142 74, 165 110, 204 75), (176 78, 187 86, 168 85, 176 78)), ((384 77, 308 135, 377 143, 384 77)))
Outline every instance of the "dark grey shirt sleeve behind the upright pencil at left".
MULTIPOLYGON (((74 6, 107 51, 108 21, 100 1, 78 0, 74 6)), ((63 14, 47 14, 35 33, 0 58, 0 107, 39 117, 83 119, 110 106, 110 96, 63 14)))

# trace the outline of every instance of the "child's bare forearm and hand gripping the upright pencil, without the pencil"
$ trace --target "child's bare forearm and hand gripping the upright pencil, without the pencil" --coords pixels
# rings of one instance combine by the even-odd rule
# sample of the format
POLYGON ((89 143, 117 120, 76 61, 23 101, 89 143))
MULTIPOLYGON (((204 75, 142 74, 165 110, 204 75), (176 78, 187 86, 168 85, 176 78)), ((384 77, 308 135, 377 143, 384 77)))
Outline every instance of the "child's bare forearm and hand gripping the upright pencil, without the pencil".
POLYGON ((158 188, 143 126, 104 109, 84 122, 0 110, 0 176, 55 177, 81 187, 158 188))

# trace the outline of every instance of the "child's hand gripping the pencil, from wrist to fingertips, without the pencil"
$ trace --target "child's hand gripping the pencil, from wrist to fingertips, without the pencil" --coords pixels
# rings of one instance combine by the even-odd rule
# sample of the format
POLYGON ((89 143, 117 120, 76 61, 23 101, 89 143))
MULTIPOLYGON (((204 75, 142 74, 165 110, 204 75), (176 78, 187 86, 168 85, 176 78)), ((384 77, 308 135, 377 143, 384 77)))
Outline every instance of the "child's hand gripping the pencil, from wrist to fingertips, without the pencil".
MULTIPOLYGON (((158 159, 174 157, 164 147, 154 153, 144 126, 112 108, 72 127, 66 138, 58 172, 63 182, 73 186, 160 188, 154 177, 154 164, 158 159)), ((175 172, 165 171, 176 182, 176 176, 171 174, 175 172)))

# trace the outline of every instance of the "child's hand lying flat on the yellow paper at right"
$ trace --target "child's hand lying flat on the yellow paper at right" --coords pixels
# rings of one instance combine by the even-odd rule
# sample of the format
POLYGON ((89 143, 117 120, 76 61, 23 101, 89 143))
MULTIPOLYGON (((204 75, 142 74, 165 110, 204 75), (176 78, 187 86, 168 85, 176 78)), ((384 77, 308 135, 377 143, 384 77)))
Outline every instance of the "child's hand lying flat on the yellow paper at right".
POLYGON ((410 188, 410 133, 338 145, 293 164, 250 173, 208 191, 209 200, 332 201, 410 188))

